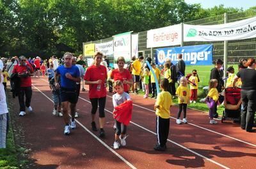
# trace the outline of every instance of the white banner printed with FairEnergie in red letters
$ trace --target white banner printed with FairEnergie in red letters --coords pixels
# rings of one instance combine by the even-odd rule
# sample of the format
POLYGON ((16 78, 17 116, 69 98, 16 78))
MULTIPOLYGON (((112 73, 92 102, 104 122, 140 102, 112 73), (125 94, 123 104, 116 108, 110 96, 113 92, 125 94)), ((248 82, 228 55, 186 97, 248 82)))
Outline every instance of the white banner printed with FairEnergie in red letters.
POLYGON ((180 24, 147 31, 147 48, 168 47, 173 45, 180 45, 180 43, 180 24))

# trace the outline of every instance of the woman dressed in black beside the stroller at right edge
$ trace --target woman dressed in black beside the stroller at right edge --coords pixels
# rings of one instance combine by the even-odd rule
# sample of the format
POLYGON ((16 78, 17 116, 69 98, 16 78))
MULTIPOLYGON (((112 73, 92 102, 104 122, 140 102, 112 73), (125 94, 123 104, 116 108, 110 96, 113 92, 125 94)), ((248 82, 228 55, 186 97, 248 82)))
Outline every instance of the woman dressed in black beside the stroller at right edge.
POLYGON ((248 68, 240 70, 234 77, 233 86, 238 78, 242 81, 241 99, 241 128, 252 132, 254 115, 256 111, 256 62, 255 59, 248 59, 248 68))

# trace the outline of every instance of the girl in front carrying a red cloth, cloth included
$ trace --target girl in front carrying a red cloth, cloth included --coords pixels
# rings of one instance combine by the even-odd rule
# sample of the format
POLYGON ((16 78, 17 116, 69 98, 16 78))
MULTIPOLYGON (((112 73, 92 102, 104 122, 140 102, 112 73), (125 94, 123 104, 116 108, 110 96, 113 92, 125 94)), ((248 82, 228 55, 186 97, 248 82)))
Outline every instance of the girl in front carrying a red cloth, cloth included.
POLYGON ((115 118, 115 142, 113 143, 114 149, 119 149, 120 143, 122 146, 126 145, 125 136, 127 130, 127 124, 131 121, 132 117, 132 101, 127 92, 124 92, 124 85, 120 80, 116 80, 114 84, 116 94, 113 95, 115 118), (118 142, 120 138, 120 143, 118 142))

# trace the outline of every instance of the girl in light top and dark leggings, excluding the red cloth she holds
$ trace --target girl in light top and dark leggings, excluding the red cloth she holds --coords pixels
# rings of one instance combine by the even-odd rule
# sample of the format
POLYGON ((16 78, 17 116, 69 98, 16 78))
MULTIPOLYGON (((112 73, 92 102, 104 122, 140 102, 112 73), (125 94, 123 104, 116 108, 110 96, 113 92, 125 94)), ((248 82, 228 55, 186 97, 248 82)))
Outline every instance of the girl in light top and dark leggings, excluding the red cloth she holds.
MULTIPOLYGON (((124 85, 120 80, 116 80, 116 82, 114 83, 114 89, 116 92, 116 94, 113 95, 114 109, 115 107, 124 103, 125 101, 131 100, 129 94, 127 92, 124 92, 124 85)), ((125 134, 126 134, 127 126, 125 126, 124 123, 118 122, 115 119, 115 127, 116 127, 116 132, 115 132, 115 142, 113 143, 113 147, 114 149, 119 149, 120 143, 122 146, 126 145, 125 134), (120 143, 118 142, 119 138, 120 138, 120 143)))

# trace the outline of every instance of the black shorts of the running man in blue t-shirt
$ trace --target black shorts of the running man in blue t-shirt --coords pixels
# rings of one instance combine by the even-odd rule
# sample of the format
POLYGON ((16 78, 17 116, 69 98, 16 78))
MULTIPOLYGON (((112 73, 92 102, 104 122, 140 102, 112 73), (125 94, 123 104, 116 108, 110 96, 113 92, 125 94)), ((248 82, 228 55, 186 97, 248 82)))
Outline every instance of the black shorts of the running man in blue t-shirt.
POLYGON ((77 92, 76 89, 60 89, 60 97, 61 97, 61 102, 68 101, 69 103, 76 104, 78 97, 77 97, 77 92))

